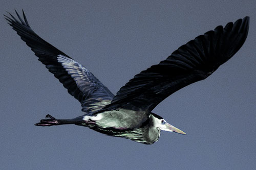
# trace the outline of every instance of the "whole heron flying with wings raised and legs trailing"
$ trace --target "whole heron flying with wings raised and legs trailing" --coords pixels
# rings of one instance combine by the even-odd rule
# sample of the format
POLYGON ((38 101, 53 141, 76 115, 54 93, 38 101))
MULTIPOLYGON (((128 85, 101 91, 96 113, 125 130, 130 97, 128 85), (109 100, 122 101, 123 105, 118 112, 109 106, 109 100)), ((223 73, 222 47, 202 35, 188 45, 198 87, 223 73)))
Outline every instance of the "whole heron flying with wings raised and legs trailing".
POLYGON ((48 114, 35 126, 74 124, 144 144, 158 141, 161 130, 185 134, 152 110, 175 91, 210 76, 238 52, 249 30, 248 16, 218 26, 141 71, 114 95, 86 67, 40 38, 24 11, 23 18, 17 12, 17 18, 8 14, 13 30, 82 106, 81 116, 56 119, 48 114))

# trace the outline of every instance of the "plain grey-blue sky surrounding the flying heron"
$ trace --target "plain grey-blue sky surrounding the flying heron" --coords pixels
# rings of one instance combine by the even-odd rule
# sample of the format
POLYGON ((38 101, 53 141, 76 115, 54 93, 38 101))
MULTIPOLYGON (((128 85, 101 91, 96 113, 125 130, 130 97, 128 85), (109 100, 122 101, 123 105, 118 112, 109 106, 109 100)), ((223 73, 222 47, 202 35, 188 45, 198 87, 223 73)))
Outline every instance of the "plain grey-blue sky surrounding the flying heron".
POLYGON ((256 167, 256 1, 0 2, 0 169, 253 169, 256 167), (115 94, 196 36, 250 16, 247 40, 204 81, 153 112, 187 135, 153 145, 74 125, 34 126, 81 106, 37 61, 2 14, 24 9, 43 39, 89 68, 115 94))

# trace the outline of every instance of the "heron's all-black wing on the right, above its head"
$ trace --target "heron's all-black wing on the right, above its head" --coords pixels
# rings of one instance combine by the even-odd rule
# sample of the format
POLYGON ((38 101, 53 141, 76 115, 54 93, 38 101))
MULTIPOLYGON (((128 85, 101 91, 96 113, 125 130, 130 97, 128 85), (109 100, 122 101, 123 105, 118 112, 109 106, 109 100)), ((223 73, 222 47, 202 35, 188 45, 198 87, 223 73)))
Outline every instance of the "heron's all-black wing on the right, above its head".
POLYGON ((212 74, 243 45, 249 17, 229 22, 223 28, 196 37, 178 48, 166 60, 140 72, 126 83, 104 109, 125 108, 152 111, 175 91, 212 74))

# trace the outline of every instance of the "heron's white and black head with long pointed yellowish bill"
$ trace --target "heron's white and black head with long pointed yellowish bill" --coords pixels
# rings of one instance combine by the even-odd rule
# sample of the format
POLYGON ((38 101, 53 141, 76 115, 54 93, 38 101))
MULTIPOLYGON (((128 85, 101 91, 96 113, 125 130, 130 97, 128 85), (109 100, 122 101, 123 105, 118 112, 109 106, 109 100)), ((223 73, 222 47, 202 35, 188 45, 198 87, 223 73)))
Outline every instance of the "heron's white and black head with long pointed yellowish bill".
POLYGON ((168 132, 176 132, 176 133, 180 133, 185 135, 186 133, 183 132, 182 130, 174 127, 173 125, 168 124, 163 117, 155 114, 155 113, 151 113, 150 118, 152 120, 153 125, 158 128, 159 130, 163 130, 163 131, 168 131, 168 132))

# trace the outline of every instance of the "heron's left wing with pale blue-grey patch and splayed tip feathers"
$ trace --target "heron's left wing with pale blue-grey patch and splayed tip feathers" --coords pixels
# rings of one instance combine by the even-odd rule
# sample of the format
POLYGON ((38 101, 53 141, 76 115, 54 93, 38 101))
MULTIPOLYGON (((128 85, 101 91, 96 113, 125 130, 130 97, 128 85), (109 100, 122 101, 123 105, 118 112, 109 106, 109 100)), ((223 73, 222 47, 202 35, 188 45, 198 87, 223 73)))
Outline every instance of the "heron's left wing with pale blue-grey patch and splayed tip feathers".
POLYGON ((68 92, 81 103, 82 111, 92 114, 112 101, 114 95, 111 91, 86 67, 40 38, 30 28, 24 11, 24 20, 17 12, 16 14, 19 20, 11 14, 11 17, 5 15, 9 25, 31 47, 38 60, 45 64, 68 92))

